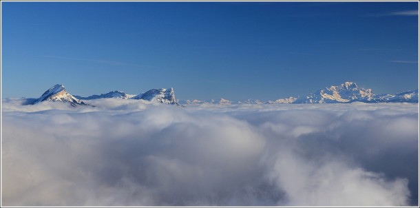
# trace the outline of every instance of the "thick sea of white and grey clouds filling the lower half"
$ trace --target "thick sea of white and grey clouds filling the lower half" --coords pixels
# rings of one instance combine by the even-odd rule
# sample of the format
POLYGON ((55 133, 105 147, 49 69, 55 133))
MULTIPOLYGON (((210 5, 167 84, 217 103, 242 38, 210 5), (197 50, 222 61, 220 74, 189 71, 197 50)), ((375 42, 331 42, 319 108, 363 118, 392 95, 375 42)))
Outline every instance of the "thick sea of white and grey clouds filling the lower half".
POLYGON ((418 205, 418 103, 2 101, 3 206, 418 205))

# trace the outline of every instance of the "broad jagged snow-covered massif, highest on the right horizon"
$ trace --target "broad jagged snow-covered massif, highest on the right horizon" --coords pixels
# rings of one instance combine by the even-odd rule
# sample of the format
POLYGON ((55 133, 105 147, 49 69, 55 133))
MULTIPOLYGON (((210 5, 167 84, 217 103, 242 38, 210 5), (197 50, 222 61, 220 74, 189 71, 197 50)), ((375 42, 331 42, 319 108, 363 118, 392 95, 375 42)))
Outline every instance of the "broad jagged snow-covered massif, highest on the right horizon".
POLYGON ((370 100, 374 96, 371 89, 364 89, 356 83, 346 82, 297 98, 293 103, 348 103, 361 98, 370 100))

